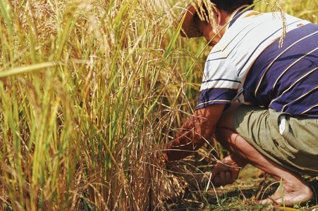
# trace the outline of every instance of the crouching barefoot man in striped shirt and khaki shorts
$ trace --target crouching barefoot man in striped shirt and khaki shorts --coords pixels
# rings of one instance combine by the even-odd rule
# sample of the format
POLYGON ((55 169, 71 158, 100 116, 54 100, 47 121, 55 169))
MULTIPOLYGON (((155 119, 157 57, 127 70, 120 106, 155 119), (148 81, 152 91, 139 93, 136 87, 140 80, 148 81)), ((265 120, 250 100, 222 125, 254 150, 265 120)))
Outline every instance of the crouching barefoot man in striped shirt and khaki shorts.
POLYGON ((185 158, 215 136, 230 155, 212 170, 214 186, 251 164, 282 181, 283 200, 277 190, 260 203, 307 202, 314 194, 300 174, 318 174, 318 26, 258 13, 252 0, 208 3, 185 13, 183 37, 204 36, 214 47, 195 113, 166 143, 164 159, 185 158))

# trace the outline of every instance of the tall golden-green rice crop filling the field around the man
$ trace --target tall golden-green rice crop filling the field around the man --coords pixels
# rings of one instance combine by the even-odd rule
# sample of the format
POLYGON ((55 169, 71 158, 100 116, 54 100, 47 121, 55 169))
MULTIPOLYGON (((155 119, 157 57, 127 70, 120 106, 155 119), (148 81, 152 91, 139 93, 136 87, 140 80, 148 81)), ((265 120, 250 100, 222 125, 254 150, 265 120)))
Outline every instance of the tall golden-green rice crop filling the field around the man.
MULTIPOLYGON (((318 23, 317 0, 255 2, 318 23)), ((187 3, 0 1, 0 210, 213 206, 204 188, 220 146, 170 170, 159 160, 209 52, 178 34, 187 3)))

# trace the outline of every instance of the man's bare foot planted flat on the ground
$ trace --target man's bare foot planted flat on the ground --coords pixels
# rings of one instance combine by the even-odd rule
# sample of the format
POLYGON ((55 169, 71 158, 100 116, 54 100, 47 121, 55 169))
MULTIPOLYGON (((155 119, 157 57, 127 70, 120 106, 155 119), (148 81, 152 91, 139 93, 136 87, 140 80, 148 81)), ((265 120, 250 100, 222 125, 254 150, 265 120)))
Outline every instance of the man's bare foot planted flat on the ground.
POLYGON ((310 186, 307 186, 307 184, 304 184, 302 181, 300 181, 300 183, 299 181, 295 183, 291 184, 283 182, 282 186, 279 186, 272 196, 260 200, 259 203, 293 207, 295 204, 307 203, 313 198, 314 194, 312 193, 310 186))

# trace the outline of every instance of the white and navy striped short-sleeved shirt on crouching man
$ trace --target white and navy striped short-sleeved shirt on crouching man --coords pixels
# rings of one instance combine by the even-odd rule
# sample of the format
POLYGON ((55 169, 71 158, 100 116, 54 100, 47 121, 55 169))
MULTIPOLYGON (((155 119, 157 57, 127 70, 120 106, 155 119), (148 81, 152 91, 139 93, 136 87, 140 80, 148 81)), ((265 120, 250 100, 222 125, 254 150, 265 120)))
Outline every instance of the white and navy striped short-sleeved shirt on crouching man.
POLYGON ((241 103, 318 117, 318 26, 286 14, 246 11, 207 57, 197 108, 241 103))

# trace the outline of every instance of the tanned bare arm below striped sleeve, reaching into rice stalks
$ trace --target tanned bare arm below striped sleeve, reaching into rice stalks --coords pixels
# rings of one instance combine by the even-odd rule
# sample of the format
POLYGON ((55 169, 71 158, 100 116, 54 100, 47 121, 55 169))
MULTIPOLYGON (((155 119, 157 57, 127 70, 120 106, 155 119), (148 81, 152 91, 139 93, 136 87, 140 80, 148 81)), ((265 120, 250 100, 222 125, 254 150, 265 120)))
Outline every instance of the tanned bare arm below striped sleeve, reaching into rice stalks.
POLYGON ((195 110, 178 131, 176 138, 164 146, 164 160, 181 160, 197 151, 215 131, 226 104, 212 104, 195 110))

